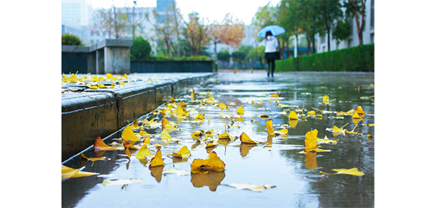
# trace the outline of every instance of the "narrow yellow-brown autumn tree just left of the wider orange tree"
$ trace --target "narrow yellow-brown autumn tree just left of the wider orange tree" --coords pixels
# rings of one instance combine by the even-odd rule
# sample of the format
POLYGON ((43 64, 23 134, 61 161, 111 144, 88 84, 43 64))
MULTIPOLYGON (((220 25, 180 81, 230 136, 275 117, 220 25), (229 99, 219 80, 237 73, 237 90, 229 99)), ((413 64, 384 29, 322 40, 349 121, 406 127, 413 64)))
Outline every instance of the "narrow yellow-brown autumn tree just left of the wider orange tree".
POLYGON ((204 20, 200 20, 197 12, 189 14, 189 24, 185 36, 192 47, 192 55, 198 56, 204 46, 210 41, 207 26, 204 25, 204 20))

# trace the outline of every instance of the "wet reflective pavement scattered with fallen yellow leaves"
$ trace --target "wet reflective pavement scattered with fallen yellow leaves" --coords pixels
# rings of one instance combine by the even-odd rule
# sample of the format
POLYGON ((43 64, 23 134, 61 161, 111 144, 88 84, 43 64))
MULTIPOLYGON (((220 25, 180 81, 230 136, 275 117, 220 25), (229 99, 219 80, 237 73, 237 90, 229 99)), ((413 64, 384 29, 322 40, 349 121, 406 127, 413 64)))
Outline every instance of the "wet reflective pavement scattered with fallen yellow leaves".
MULTIPOLYGON (((110 160, 86 161, 71 158, 64 165, 84 167, 84 171, 99 172, 99 176, 71 178, 62 181, 62 207, 374 207, 375 199, 375 123, 374 74, 373 73, 275 73, 267 78, 266 73, 254 71, 220 72, 207 85, 194 88, 196 98, 190 92, 175 99, 187 103, 192 116, 204 113, 201 125, 184 120, 177 125, 181 130, 170 131, 172 142, 161 148, 166 165, 149 168, 147 161, 129 160, 124 150, 94 152, 84 151, 87 157, 109 157, 110 160), (213 95, 218 102, 201 105, 198 100, 213 95), (272 97, 279 93, 279 98, 272 97), (322 97, 329 95, 332 105, 322 105, 322 97), (365 98, 365 97, 370 97, 365 98), (262 100, 262 104, 259 101, 262 100), (254 102, 254 103, 253 103, 254 102), (221 110, 218 103, 230 103, 229 110, 221 110), (362 106, 364 120, 355 125, 352 116, 337 118, 336 113, 323 114, 322 118, 306 117, 297 123, 289 122, 284 110, 302 109, 305 113, 312 108, 332 112, 352 110, 362 106), (237 108, 244 106, 244 115, 237 116, 237 108), (268 115, 269 118, 261 118, 268 115), (233 118, 232 118, 233 116, 233 118), (275 130, 287 128, 287 136, 268 137, 265 123, 272 119, 275 130), (348 123, 348 124, 347 124, 348 123), (191 136, 198 130, 213 129, 216 134, 224 132, 224 125, 231 125, 227 132, 239 137, 245 132, 262 145, 240 144, 239 140, 219 140, 216 147, 199 145, 191 136), (346 125, 347 124, 347 125, 346 125), (333 135, 327 128, 348 131, 355 128, 359 135, 333 135), (327 136, 337 144, 322 144, 322 149, 331 152, 298 154, 304 150, 304 135, 317 129, 318 137, 327 136), (166 157, 176 147, 186 145, 191 151, 187 159, 166 157), (163 174, 164 170, 177 169, 189 172, 194 159, 205 159, 216 152, 225 163, 222 172, 177 176, 163 174), (319 171, 333 173, 332 169, 357 167, 365 175, 323 175, 319 171), (106 186, 103 180, 140 179, 123 185, 106 186), (276 187, 263 192, 237 190, 225 184, 251 183, 273 184, 276 187)), ((320 112, 315 110, 317 114, 320 112)), ((139 120, 154 118, 144 115, 139 120)), ((162 115, 156 118, 162 121, 162 115)), ((175 118, 167 118, 177 122, 175 118)), ((151 144, 161 142, 161 128, 145 129, 157 134, 151 144)), ((119 138, 120 132, 104 140, 106 144, 119 138)), ((116 140, 115 140, 116 141, 116 140)), ((151 148, 151 150, 156 150, 151 148)), ((136 152, 132 150, 132 155, 136 152)))

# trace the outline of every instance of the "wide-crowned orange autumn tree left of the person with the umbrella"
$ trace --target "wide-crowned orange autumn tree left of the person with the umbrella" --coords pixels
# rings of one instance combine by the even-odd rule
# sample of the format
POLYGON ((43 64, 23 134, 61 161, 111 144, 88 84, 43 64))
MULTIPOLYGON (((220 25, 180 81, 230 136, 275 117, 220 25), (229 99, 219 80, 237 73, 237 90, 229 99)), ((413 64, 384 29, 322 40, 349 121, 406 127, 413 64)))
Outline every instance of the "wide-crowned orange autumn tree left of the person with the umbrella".
POLYGON ((224 43, 234 48, 239 47, 245 37, 245 26, 242 21, 238 19, 233 21, 233 17, 226 14, 221 24, 217 21, 210 24, 209 35, 214 44, 215 59, 217 60, 217 43, 224 43))

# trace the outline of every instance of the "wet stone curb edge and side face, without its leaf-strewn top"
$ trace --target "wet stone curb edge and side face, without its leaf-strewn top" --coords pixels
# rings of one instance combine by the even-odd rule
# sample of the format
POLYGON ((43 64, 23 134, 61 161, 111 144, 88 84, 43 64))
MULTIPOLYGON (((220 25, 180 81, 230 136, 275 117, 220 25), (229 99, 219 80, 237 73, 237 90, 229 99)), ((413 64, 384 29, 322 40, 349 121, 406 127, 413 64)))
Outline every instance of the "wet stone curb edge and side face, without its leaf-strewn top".
POLYGON ((62 95, 62 161, 107 137, 129 122, 147 114, 192 85, 217 73, 192 73, 189 78, 172 78, 151 84, 139 82, 122 89, 83 90, 62 95))

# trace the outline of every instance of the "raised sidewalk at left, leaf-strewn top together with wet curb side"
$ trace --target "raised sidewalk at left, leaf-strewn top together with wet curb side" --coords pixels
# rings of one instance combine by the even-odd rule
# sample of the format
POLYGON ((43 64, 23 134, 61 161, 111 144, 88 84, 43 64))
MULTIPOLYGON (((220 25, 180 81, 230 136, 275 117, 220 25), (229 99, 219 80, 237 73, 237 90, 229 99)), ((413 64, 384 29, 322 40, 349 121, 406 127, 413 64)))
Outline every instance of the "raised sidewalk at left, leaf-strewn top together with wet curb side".
POLYGON ((111 135, 135 118, 154 110, 164 100, 216 74, 134 73, 127 78, 82 74, 76 75, 75 79, 71 78, 72 75, 64 75, 62 161, 92 145, 96 137, 111 135))

